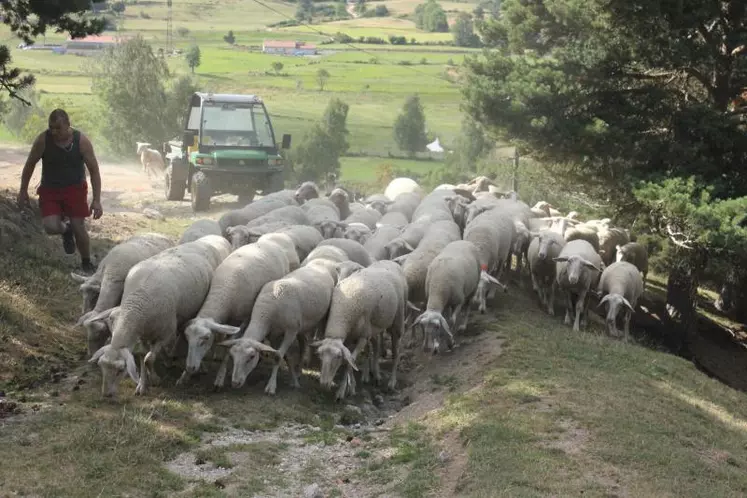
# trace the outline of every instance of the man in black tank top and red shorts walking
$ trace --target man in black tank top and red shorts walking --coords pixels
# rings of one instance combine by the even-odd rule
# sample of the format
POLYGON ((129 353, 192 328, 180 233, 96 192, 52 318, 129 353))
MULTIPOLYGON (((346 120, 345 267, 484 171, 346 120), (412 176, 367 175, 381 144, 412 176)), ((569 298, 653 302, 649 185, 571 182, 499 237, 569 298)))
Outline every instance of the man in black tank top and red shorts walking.
POLYGON ((67 254, 74 254, 77 245, 82 270, 91 274, 96 268, 91 263, 85 219, 93 214, 93 219, 97 220, 103 214, 99 163, 91 141, 70 126, 70 117, 62 109, 52 111, 49 129, 39 134, 31 146, 18 192, 18 205, 21 207, 29 205, 29 182, 40 159, 42 178, 36 193, 39 195, 44 230, 50 235, 62 235, 67 254), (90 206, 85 167, 88 167, 93 187, 90 206))

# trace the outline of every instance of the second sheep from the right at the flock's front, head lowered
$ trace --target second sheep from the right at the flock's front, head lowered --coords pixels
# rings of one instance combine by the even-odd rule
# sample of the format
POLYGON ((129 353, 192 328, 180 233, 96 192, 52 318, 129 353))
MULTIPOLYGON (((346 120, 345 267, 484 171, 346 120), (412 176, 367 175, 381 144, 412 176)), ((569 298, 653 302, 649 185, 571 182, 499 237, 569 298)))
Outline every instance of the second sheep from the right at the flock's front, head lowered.
MULTIPOLYGON (((583 239, 566 242, 560 254, 553 258, 555 266, 555 283, 566 293, 565 325, 571 323, 571 310, 574 309, 573 298, 576 298, 573 331, 580 330, 581 314, 588 314, 588 293, 596 288, 602 273, 602 258, 591 244, 583 239)), ((584 320, 586 321, 586 320, 584 320)))

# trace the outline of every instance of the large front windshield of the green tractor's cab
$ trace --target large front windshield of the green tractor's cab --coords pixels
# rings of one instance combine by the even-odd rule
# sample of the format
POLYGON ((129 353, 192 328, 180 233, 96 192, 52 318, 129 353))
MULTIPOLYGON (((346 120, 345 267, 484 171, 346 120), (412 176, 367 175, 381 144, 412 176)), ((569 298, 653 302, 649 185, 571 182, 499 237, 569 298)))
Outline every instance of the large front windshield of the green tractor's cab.
POLYGON ((202 143, 214 146, 274 147, 270 118, 262 105, 205 104, 202 143))

